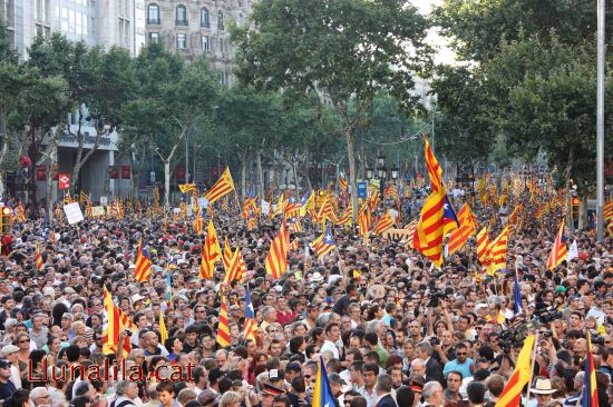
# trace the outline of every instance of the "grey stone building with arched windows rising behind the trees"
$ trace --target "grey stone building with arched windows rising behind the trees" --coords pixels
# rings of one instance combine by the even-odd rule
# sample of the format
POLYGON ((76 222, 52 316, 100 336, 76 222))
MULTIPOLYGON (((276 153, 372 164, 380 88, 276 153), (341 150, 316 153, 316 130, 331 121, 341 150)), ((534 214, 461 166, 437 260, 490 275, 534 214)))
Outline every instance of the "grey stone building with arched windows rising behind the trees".
POLYGON ((186 59, 204 54, 220 81, 232 85, 228 24, 242 24, 251 0, 146 0, 147 41, 162 41, 186 59))

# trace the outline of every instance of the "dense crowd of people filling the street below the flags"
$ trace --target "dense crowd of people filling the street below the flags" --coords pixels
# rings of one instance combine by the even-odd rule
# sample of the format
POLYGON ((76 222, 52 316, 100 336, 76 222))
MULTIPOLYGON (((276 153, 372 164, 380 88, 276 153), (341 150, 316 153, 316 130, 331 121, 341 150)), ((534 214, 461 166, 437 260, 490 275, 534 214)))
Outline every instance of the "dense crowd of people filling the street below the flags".
POLYGON ((279 218, 247 230, 232 206, 214 222, 242 250, 244 281, 225 285, 221 262, 212 279, 198 277, 203 235, 187 220, 127 212, 77 226, 16 222, 0 258, 2 406, 310 406, 321 361, 337 407, 494 406, 527 330, 538 336, 524 405, 581 403, 587 336, 600 406, 613 399, 611 238, 576 232, 568 242, 576 239, 578 257, 548 270, 557 229, 528 224, 509 239, 507 269, 487 276, 475 237, 437 269, 405 241, 372 236, 364 245, 354 228, 335 227, 337 248, 318 261, 305 246, 321 227, 304 218, 291 237, 301 247, 274 280, 264 259, 279 218), (146 282, 134 277, 140 241, 153 264, 146 282), (135 325, 119 337, 132 345, 125 356, 120 346, 105 355, 105 285, 135 325), (247 285, 255 340, 243 331, 247 285), (225 348, 216 343, 222 294, 225 348), (120 374, 109 377, 117 360, 120 374), (88 376, 96 367, 104 379, 88 376), (143 375, 121 375, 135 367, 143 375))

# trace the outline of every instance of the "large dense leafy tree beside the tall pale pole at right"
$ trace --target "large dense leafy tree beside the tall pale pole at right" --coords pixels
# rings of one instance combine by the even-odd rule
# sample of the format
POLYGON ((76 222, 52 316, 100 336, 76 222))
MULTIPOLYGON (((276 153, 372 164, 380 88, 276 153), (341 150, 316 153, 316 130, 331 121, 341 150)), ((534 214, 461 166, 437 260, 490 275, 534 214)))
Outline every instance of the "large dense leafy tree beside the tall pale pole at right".
MULTIPOLYGON (((607 13, 611 40, 613 4, 607 13)), ((544 153, 565 185, 573 178, 580 193, 588 193, 595 181, 595 14, 596 7, 581 0, 444 1, 434 24, 465 60, 438 67, 434 80, 453 125, 448 147, 470 151, 457 137, 466 133, 484 153, 499 142, 515 157, 544 153)), ((609 56, 609 67, 612 61, 609 56)), ((609 95, 611 81, 606 87, 609 95)), ((610 117, 611 108, 605 111, 610 117)))

